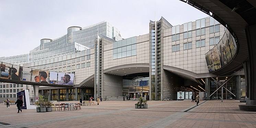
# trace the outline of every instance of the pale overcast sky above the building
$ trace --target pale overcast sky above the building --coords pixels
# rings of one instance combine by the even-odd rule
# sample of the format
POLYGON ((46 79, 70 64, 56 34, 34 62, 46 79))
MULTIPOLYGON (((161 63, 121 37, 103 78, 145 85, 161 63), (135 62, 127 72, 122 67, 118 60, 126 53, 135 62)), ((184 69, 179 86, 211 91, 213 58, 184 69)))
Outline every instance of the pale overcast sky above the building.
MULTIPOLYGON (((173 26, 208 17, 179 0, 156 0, 156 20, 161 16, 173 26)), ((150 20, 155 0, 0 0, 0 57, 28 54, 71 26, 106 21, 126 39, 149 33, 150 20)))

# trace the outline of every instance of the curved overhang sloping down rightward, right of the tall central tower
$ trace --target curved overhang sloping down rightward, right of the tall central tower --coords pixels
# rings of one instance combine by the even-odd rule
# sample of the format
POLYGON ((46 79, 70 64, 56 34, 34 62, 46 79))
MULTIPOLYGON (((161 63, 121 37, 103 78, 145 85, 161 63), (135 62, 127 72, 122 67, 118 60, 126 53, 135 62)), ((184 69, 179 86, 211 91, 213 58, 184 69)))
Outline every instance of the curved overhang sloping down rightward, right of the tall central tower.
POLYGON ((172 67, 172 66, 166 66, 166 65, 163 66, 163 69, 167 70, 167 71, 169 71, 169 72, 171 72, 171 73, 173 73, 173 74, 175 74, 179 77, 182 77, 183 79, 194 81, 194 82, 197 82, 197 83, 200 83, 196 80, 197 78, 215 76, 215 75, 212 75, 212 74, 209 74, 209 73, 195 73, 195 72, 191 72, 191 71, 188 71, 188 70, 185 70, 185 69, 172 67))

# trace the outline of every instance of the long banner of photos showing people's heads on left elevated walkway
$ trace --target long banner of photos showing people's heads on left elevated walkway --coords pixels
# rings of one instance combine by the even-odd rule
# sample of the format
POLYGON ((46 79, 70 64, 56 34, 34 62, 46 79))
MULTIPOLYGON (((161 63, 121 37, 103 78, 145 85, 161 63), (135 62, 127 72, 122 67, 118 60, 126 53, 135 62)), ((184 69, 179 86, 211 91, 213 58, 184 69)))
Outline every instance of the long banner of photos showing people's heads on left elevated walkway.
POLYGON ((73 85, 74 74, 49 72, 0 62, 1 79, 28 81, 44 84, 73 85))

